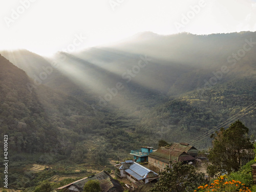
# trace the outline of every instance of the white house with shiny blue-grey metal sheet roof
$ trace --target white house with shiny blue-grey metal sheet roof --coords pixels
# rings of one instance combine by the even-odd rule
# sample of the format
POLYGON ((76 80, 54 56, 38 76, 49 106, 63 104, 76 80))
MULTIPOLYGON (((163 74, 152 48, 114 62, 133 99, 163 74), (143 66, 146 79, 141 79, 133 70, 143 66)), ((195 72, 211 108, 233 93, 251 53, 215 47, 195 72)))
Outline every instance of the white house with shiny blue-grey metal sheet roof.
POLYGON ((159 177, 157 173, 132 160, 122 162, 119 170, 120 176, 131 182, 142 181, 148 183, 159 177))

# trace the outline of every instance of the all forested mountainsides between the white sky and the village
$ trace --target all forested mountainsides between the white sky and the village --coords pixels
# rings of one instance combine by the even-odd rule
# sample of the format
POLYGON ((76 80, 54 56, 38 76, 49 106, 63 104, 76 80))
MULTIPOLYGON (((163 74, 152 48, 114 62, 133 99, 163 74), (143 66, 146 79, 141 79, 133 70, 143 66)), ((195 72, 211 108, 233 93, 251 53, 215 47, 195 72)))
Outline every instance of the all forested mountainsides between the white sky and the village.
POLYGON ((210 134, 203 134, 230 117, 255 139, 255 42, 255 32, 142 33, 52 58, 0 52, 0 135, 8 135, 15 162, 10 184, 33 188, 56 174, 34 177, 33 163, 102 167, 140 146, 157 148, 160 139, 207 149, 210 134))

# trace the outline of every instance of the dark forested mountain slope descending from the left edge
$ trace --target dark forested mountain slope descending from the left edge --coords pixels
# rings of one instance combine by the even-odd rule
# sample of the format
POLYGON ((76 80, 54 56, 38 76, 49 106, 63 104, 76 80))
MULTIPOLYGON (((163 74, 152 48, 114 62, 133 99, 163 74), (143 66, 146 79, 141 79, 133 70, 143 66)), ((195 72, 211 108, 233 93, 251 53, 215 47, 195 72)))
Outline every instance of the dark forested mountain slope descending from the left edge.
POLYGON ((0 126, 17 152, 43 152, 56 144, 58 131, 45 114, 35 93, 30 93, 27 74, 0 56, 0 126))

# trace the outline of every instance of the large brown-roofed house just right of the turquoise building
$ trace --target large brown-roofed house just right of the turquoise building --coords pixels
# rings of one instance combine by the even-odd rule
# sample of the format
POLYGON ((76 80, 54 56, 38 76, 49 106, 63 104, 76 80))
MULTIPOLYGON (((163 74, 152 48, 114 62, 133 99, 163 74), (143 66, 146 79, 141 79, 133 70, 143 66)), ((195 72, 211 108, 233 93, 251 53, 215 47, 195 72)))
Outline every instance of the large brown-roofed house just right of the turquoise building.
POLYGON ((169 161, 195 164, 198 150, 187 143, 174 143, 172 146, 160 147, 148 155, 148 167, 155 172, 162 172, 169 166, 169 161))

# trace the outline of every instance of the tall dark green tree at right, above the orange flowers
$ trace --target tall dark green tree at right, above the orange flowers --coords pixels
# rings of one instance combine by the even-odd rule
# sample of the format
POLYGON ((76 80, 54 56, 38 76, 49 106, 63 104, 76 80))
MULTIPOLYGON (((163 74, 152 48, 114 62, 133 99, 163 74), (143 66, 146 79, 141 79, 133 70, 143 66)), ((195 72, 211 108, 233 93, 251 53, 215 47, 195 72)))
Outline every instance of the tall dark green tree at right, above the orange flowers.
POLYGON ((239 120, 232 123, 228 129, 223 127, 211 138, 213 147, 210 150, 208 159, 212 165, 207 167, 210 176, 220 176, 221 173, 232 171, 237 172, 242 165, 242 160, 249 161, 249 150, 253 144, 247 137, 248 128, 239 120))

